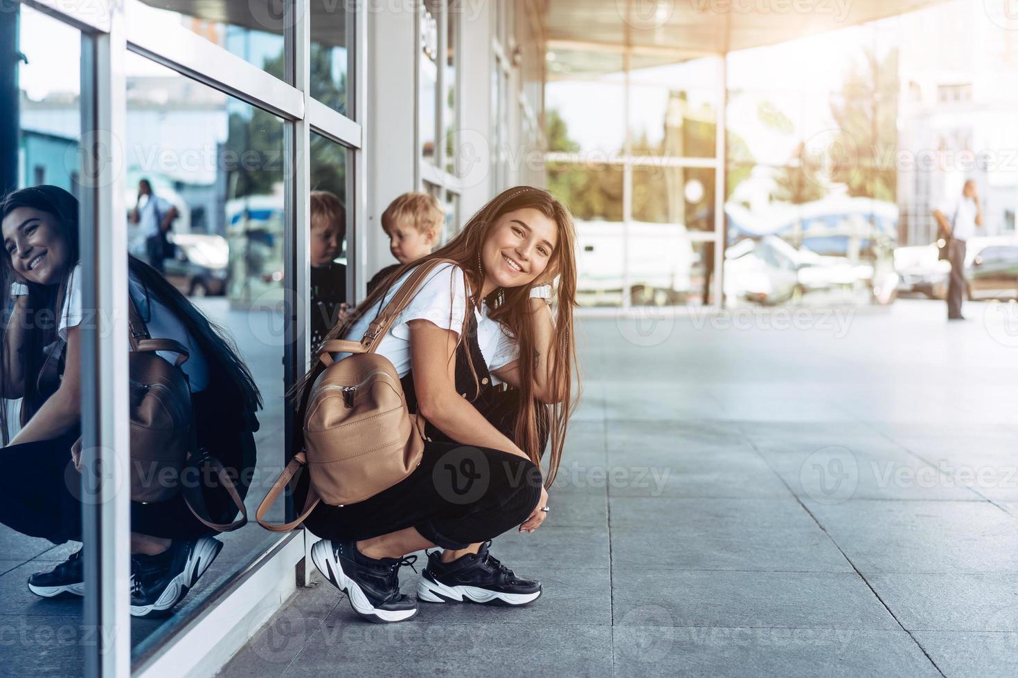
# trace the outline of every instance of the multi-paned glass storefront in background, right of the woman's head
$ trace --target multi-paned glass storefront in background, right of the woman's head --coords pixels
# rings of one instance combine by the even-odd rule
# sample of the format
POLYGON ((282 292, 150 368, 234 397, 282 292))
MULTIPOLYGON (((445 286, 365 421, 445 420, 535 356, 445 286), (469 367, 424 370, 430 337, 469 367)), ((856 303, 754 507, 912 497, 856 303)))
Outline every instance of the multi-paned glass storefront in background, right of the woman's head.
POLYGON ((546 62, 548 187, 583 243, 580 304, 715 298, 702 254, 713 269, 721 59, 563 47, 546 62))

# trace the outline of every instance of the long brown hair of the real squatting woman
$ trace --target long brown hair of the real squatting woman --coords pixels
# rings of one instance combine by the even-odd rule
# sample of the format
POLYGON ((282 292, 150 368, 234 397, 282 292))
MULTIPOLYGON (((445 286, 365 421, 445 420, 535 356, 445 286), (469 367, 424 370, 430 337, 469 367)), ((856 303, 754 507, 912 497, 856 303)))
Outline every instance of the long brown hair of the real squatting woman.
MULTIPOLYGON (((325 340, 345 337, 346 332, 357 320, 366 313, 376 310, 375 307, 385 298, 389 288, 410 268, 431 259, 452 259, 459 264, 470 283, 467 289, 470 308, 478 308, 482 303, 486 303, 490 317, 497 320, 507 333, 514 337, 519 347, 520 409, 516 415, 514 442, 530 457, 530 460, 540 467, 543 450, 539 449, 538 413, 533 398, 534 361, 528 359, 534 355, 533 329, 528 301, 529 288, 497 288, 486 299, 479 299, 484 286, 484 270, 478 266, 478 258, 485 241, 502 214, 527 207, 538 209, 558 226, 558 245, 549 259, 548 268, 543 273, 545 280, 558 279, 556 286, 558 303, 555 309, 556 331, 552 338, 551 355, 547 357, 554 364, 554 370, 549 379, 549 388, 554 400, 549 418, 551 455, 548 465, 548 478, 545 481, 545 486, 549 487, 555 481, 562 460, 566 429, 569 418, 579 400, 580 385, 577 377, 574 396, 572 373, 577 363, 576 343, 573 335, 573 308, 576 306, 576 229, 569 210, 548 191, 531 186, 517 186, 495 196, 471 217, 463 229, 447 244, 427 256, 400 265, 386 275, 367 295, 367 298, 357 305, 356 309, 326 334, 325 340)), ((463 341, 468 319, 469 315, 465 315, 463 328, 457 340, 457 347, 459 342, 463 341)), ((476 384, 476 371, 472 361, 468 362, 476 384)), ((315 361, 312 370, 294 384, 290 391, 291 396, 303 400, 306 388, 318 377, 322 369, 321 362, 315 361)), ((297 407, 300 407, 299 402, 297 407)))

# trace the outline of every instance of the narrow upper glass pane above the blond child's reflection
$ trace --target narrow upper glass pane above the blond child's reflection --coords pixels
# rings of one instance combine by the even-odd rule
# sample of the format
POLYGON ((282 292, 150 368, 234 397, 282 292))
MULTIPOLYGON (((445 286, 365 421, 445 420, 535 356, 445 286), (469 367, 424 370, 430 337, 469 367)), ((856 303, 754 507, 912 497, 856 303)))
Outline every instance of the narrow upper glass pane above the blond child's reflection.
POLYGON ((353 44, 353 14, 350 4, 332 0, 310 2, 310 88, 312 97, 352 118, 347 96, 353 91, 353 63, 349 46, 353 44))

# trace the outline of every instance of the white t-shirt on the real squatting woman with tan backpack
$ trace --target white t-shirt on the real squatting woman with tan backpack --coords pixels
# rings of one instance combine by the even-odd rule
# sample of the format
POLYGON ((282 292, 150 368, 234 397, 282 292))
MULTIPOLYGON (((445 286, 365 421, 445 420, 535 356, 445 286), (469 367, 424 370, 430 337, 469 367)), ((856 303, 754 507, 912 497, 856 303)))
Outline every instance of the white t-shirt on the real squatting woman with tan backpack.
MULTIPOLYGON (((385 298, 376 304, 369 312, 357 320, 347 331, 346 338, 359 342, 367 331, 367 326, 378 315, 380 309, 395 296, 399 286, 410 276, 414 268, 406 271, 386 293, 385 298)), ((489 371, 501 369, 516 360, 519 348, 516 342, 502 328, 502 324, 488 315, 488 307, 482 304, 480 310, 474 310, 477 320, 477 345, 485 357, 489 371)), ((410 320, 425 319, 443 329, 451 329, 458 335, 463 327, 466 313, 466 288, 463 282, 463 270, 457 265, 443 263, 433 270, 417 289, 417 293, 392 323, 389 331, 382 337, 376 353, 385 356, 396 368, 400 377, 410 371, 410 320)), ((335 354, 336 360, 342 360, 350 354, 335 354)), ((493 383, 501 383, 498 377, 492 375, 493 383)))

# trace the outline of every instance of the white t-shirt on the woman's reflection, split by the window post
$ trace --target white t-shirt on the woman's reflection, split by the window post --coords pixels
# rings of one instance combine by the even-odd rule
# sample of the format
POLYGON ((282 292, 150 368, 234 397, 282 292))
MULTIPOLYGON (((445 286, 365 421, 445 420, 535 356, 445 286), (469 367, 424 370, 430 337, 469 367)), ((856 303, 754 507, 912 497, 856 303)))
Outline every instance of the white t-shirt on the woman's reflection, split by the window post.
MULTIPOLYGON (((145 286, 132 274, 130 275, 128 291, 131 299, 134 300, 134 304, 137 306, 138 313, 142 314, 143 318, 149 318, 146 326, 152 338, 175 340, 187 348, 190 356, 180 366, 180 369, 187 375, 192 393, 205 390, 209 385, 209 365, 202 351, 199 349, 197 342, 194 341, 194 337, 184 327, 183 322, 162 302, 156 299, 151 290, 148 297, 146 297, 145 286)), ((76 327, 81 324, 83 319, 84 315, 81 311, 81 264, 79 263, 71 271, 70 283, 67 286, 67 300, 64 303, 63 311, 60 313, 60 323, 57 326, 60 338, 66 342, 67 327, 76 327)), ((94 321, 94 318, 90 320, 94 321)), ((157 355, 171 363, 177 359, 177 354, 169 351, 159 351, 157 355)))

